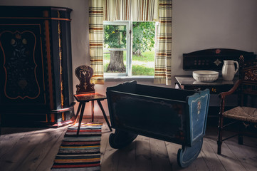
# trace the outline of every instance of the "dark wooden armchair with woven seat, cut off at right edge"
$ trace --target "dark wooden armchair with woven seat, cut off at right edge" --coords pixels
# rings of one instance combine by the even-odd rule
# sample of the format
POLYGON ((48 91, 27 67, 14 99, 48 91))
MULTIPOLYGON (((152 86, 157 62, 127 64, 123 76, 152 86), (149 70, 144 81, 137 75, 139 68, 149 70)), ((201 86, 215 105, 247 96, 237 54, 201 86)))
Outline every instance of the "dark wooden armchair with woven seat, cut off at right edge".
POLYGON ((256 137, 257 129, 257 60, 244 61, 239 58, 239 79, 231 90, 220 93, 218 154, 221 154, 221 145, 224 140, 238 135, 238 144, 243 144, 243 135, 256 137), (238 94, 238 106, 226 110, 225 98, 232 93, 238 94), (229 118, 224 120, 224 118, 229 118), (226 121, 226 125, 224 124, 226 121), (238 123, 239 122, 239 123, 238 123), (227 126, 236 125, 239 128, 236 135, 222 139, 222 133, 227 126), (242 129, 243 128, 243 129, 242 129))

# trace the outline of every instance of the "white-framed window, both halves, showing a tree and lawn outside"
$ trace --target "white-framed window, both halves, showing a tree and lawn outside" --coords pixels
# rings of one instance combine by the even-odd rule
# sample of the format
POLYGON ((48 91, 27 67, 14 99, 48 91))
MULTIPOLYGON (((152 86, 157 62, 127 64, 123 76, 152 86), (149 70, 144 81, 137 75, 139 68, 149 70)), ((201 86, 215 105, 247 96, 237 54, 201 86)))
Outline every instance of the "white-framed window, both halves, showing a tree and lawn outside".
POLYGON ((154 22, 104 21, 105 76, 154 76, 154 22))

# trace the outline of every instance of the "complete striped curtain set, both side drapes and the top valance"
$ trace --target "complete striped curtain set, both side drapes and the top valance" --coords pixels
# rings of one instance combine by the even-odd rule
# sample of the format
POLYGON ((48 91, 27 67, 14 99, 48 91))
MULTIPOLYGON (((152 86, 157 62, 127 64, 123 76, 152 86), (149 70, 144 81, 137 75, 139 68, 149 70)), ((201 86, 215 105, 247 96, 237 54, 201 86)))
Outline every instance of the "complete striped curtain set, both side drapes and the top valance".
POLYGON ((159 25, 157 28, 154 83, 171 84, 172 0, 159 0, 159 4, 156 3, 158 3, 157 0, 90 0, 90 64, 95 72, 92 79, 93 83, 104 83, 103 20, 155 21, 157 18, 159 25), (150 8, 152 4, 154 7, 150 8), (156 8, 158 8, 158 14, 154 12, 156 8))

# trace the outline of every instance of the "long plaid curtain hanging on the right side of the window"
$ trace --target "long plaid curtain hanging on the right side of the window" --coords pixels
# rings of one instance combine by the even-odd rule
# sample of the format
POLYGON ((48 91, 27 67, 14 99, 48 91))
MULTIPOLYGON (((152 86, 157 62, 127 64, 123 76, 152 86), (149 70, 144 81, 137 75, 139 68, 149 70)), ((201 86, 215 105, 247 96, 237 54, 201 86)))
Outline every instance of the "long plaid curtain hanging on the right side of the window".
POLYGON ((172 83, 172 0, 159 0, 159 26, 155 54, 154 83, 172 83))

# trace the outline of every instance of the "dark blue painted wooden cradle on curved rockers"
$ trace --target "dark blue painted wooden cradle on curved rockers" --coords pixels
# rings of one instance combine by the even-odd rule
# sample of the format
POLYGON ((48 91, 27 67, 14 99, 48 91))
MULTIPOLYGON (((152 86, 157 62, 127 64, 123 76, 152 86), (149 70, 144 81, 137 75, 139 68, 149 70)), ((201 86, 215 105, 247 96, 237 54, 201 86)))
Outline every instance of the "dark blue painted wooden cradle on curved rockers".
POLYGON ((129 145, 137 135, 182 145, 177 152, 181 167, 190 165, 201 152, 209 107, 209 90, 192 91, 137 84, 107 88, 110 134, 113 148, 129 145))

